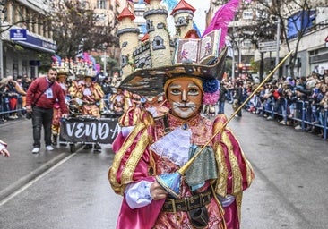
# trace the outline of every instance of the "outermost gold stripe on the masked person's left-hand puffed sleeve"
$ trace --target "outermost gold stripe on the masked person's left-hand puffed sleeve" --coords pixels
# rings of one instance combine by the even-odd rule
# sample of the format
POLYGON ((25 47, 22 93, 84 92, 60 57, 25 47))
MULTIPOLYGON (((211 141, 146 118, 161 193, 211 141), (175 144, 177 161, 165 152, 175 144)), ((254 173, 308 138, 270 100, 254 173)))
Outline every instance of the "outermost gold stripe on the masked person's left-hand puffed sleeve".
MULTIPOLYGON (((129 136, 127 137, 127 139, 125 140, 125 143, 123 144, 122 148, 120 148, 117 151, 117 154, 115 155, 114 160, 113 160, 113 164, 111 165, 111 167, 109 167, 108 180, 109 180, 109 183, 110 183, 112 189, 117 194, 123 195, 123 192, 124 192, 124 187, 123 187, 122 183, 117 182, 117 171, 118 171, 119 166, 121 165, 122 158, 125 156, 126 150, 128 148, 130 148, 132 146, 132 144, 134 143, 136 136, 144 128, 145 128, 145 125, 143 123, 140 123, 139 125, 137 125, 134 128, 134 131, 132 131, 129 134, 129 136)), ((142 151, 142 153, 143 153, 143 151, 142 151)))

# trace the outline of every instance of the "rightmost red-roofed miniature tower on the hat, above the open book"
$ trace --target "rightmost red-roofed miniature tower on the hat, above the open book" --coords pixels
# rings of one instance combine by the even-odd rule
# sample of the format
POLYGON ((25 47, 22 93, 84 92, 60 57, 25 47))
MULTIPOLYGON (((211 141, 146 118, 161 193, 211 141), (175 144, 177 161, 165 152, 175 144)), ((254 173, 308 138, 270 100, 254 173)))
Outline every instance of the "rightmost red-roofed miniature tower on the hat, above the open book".
POLYGON ((174 18, 177 38, 185 38, 187 32, 194 28, 193 18, 196 9, 185 0, 181 0, 172 10, 171 15, 174 18))

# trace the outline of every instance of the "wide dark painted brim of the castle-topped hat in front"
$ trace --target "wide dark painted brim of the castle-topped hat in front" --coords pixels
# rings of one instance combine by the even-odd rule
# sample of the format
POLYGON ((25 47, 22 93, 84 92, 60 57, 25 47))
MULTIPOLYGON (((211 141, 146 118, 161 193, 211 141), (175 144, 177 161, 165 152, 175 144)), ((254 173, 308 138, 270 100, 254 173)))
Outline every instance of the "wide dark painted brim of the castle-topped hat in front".
POLYGON ((164 92, 164 83, 177 76, 221 80, 228 47, 224 47, 212 64, 173 64, 158 68, 136 70, 121 81, 119 87, 142 96, 157 96, 164 92))

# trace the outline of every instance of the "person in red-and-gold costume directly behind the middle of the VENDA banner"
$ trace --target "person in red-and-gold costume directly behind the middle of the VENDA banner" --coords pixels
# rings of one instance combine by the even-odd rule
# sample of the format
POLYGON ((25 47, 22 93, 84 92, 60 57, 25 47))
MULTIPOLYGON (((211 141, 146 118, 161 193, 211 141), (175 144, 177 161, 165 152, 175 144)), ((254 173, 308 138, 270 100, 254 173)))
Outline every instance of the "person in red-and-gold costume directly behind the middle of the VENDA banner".
MULTIPOLYGON (((71 89, 71 95, 73 98, 78 99, 78 103, 81 108, 82 115, 88 115, 95 118, 100 118, 100 101, 104 97, 100 85, 97 82, 92 81, 94 78, 92 72, 86 72, 83 81, 75 84, 74 89, 71 89)), ((84 149, 92 148, 92 144, 86 144, 84 149)), ((98 143, 94 144, 95 151, 101 149, 98 143)))

